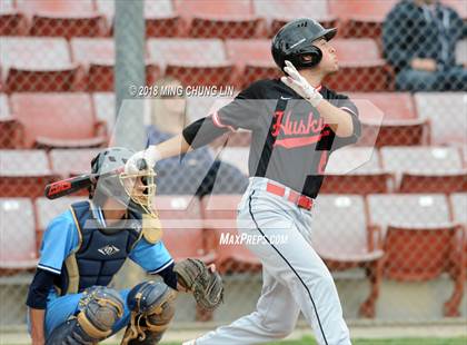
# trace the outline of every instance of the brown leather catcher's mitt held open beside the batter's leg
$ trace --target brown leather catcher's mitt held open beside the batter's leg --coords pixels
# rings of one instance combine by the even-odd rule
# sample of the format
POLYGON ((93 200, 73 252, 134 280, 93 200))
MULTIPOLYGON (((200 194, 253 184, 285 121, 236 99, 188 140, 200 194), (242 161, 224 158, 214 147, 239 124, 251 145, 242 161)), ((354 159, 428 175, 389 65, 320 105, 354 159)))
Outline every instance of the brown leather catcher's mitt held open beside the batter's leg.
POLYGON ((178 283, 193 293, 197 304, 212 310, 223 300, 223 285, 220 275, 211 272, 205 263, 188 258, 173 267, 178 283))

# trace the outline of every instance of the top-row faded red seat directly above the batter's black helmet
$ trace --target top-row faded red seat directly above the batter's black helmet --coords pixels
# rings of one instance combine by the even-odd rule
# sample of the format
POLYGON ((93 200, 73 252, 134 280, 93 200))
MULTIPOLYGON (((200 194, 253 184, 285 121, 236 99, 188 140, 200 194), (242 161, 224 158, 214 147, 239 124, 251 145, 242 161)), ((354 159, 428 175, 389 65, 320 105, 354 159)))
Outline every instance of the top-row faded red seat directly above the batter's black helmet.
POLYGON ((337 26, 337 18, 329 14, 327 0, 254 0, 252 6, 256 16, 266 18, 271 23, 270 37, 287 22, 297 18, 316 19, 325 28, 337 26))

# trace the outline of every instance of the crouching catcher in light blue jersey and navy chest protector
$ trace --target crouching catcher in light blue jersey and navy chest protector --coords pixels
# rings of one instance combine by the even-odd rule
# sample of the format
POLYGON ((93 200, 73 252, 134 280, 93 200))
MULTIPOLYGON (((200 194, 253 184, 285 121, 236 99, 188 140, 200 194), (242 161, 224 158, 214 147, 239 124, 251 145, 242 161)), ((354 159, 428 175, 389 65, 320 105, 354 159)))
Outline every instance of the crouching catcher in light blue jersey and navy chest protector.
MULTIPOLYGON (((132 154, 106 149, 91 170, 116 170, 132 154)), ((96 344, 123 327, 121 344, 158 344, 173 317, 177 292, 192 292, 208 309, 221 302, 213 265, 173 263, 151 207, 156 174, 143 160, 139 168, 102 177, 89 189, 89 201, 72 204, 49 224, 27 299, 32 344, 96 344), (127 258, 163 283, 110 288, 127 258)))

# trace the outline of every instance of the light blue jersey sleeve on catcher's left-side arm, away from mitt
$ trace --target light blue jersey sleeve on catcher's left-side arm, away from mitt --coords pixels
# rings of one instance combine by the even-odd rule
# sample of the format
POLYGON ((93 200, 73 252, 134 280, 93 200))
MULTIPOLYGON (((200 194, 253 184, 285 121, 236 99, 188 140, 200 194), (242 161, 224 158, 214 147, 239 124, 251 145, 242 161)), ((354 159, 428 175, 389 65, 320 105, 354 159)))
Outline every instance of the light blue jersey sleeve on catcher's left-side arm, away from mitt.
POLYGON ((78 246, 78 231, 68 210, 47 227, 40 247, 38 268, 59 275, 64 259, 76 246, 78 246))

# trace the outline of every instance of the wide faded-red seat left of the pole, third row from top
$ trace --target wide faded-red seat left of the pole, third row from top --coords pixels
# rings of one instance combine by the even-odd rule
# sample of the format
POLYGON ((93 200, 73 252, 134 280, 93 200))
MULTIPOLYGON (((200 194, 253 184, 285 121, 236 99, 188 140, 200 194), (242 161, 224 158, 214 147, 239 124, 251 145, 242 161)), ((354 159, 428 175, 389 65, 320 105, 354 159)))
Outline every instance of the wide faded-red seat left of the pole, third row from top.
POLYGON ((87 93, 13 93, 11 112, 24 126, 26 147, 99 147, 106 140, 87 93))

